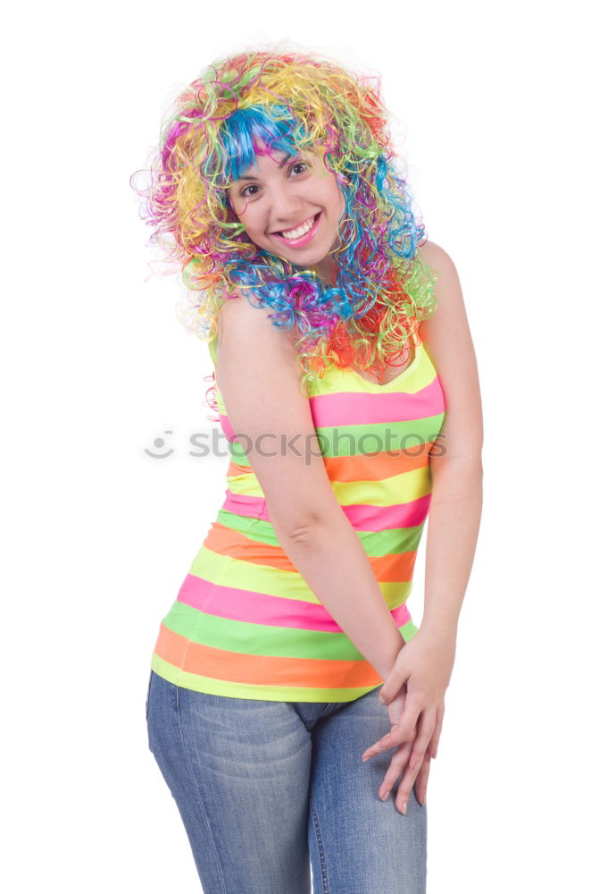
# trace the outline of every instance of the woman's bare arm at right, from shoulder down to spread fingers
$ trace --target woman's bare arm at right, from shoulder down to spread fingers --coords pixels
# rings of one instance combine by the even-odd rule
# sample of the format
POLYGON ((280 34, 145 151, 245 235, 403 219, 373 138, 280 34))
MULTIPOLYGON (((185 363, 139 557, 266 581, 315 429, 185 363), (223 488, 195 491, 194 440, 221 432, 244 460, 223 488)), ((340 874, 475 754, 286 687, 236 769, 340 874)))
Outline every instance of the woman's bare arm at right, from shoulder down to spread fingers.
POLYGON ((396 716, 390 735, 364 753, 364 758, 371 757, 398 746, 384 789, 389 793, 403 772, 396 794, 396 805, 403 811, 413 785, 424 803, 429 760, 437 755, 445 689, 454 667, 458 616, 476 550, 482 506, 482 409, 462 289, 454 263, 443 249, 427 242, 420 252, 438 274, 437 308, 421 325, 420 333, 445 395, 444 425, 429 456, 425 606, 419 633, 400 650, 379 693, 392 705, 405 686, 404 712, 396 716), (404 767, 409 741, 412 754, 404 767))

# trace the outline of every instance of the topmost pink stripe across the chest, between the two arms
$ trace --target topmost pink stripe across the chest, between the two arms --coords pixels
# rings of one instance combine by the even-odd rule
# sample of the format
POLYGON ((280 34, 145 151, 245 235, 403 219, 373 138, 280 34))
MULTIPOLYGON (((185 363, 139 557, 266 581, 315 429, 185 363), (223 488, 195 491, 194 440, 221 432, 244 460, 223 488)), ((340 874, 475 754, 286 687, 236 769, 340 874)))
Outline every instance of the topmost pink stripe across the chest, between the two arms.
POLYGON ((364 426, 380 422, 404 422, 426 419, 445 410, 439 378, 413 394, 407 392, 338 392, 310 398, 316 428, 364 426))

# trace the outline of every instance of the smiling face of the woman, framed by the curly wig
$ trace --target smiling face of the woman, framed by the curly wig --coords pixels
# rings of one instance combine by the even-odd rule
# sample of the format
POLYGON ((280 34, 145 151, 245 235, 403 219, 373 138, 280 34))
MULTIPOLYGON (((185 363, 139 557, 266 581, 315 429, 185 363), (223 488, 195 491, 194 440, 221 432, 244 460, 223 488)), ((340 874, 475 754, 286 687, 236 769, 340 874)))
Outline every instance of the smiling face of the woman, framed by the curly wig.
POLYGON ((319 156, 273 150, 271 156, 256 156, 242 178, 230 184, 229 198, 248 237, 261 249, 298 266, 315 266, 323 279, 332 278, 337 265, 329 252, 336 247, 345 198, 319 156))

